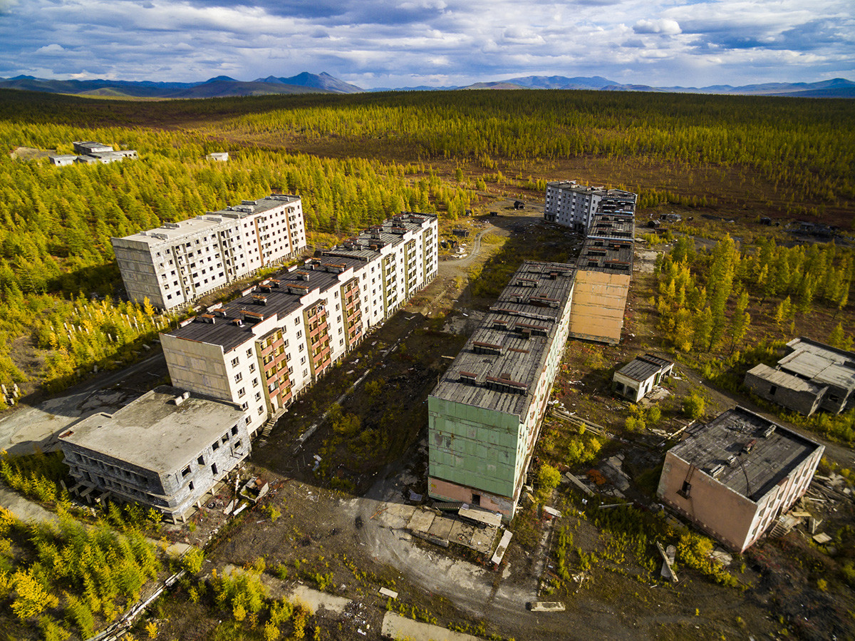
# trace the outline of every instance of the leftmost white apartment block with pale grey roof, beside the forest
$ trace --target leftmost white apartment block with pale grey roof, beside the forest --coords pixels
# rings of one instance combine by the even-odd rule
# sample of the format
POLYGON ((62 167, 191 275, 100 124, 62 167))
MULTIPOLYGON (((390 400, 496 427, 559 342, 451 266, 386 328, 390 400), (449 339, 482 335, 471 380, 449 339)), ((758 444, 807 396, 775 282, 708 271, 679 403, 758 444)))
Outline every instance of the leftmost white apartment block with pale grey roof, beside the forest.
POLYGON ((172 309, 302 251, 303 205, 274 193, 112 242, 128 297, 172 309))

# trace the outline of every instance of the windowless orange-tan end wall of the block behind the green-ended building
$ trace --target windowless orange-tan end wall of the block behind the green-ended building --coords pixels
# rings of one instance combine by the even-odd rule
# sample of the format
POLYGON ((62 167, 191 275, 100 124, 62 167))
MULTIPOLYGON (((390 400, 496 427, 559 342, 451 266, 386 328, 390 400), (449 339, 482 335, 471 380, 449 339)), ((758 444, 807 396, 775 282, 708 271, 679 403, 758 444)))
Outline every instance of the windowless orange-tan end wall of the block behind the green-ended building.
POLYGON ((628 274, 577 271, 569 335, 588 341, 619 343, 628 292, 628 274))

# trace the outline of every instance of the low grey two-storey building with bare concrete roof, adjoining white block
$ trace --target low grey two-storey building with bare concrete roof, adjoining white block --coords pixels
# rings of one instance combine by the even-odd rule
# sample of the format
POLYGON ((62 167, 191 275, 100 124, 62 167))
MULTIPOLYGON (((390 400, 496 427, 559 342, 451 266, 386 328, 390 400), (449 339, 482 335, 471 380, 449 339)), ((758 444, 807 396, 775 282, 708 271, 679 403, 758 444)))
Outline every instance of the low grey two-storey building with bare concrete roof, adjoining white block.
POLYGON ((250 453, 239 407, 161 386, 112 415, 97 413, 59 436, 77 496, 105 496, 186 513, 250 453))

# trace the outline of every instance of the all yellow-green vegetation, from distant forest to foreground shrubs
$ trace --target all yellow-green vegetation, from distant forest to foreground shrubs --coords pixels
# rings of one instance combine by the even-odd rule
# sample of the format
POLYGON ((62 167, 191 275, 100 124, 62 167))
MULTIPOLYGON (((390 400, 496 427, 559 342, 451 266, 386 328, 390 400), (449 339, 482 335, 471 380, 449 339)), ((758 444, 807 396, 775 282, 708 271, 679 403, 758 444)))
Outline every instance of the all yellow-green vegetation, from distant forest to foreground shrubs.
MULTIPOLYGON (((781 341, 801 329, 820 328, 820 335, 810 332, 814 338, 841 347, 852 342, 852 251, 830 243, 790 246, 792 237, 782 228, 752 226, 761 216, 782 223, 805 217, 851 231, 855 112, 845 100, 408 92, 165 101, 140 109, 133 101, 27 92, 3 91, 0 98, 5 150, 62 153, 71 151, 74 140, 94 139, 140 155, 124 163, 70 167, 50 166, 44 158, 0 157, 3 383, 53 392, 95 365, 117 367, 139 358, 141 346, 173 319, 147 303, 121 300, 110 237, 271 192, 303 198, 311 246, 402 210, 437 212, 445 230, 467 209, 486 213, 497 197, 540 200, 548 180, 607 181, 640 194, 640 223, 648 214, 673 210, 684 217, 662 234, 645 237, 652 248, 665 245, 666 252, 655 272, 639 275, 634 286, 645 294, 629 322, 655 329, 644 347, 673 353, 716 385, 736 389, 746 369, 758 360, 774 362, 781 341), (204 157, 211 151, 228 151, 231 160, 209 163, 204 157), (739 222, 726 228, 705 216, 739 222), (689 217, 697 220, 689 223, 689 217)), ((504 243, 488 235, 482 241, 504 243)), ((522 258, 566 254, 563 247, 545 245, 529 243, 524 251, 518 243, 498 247, 483 268, 470 269, 469 294, 494 298, 522 258)), ((445 340, 438 329, 418 331, 422 340, 445 340)), ((591 349, 584 369, 595 380, 606 377, 613 355, 591 349)), ((433 375, 433 365, 414 350, 408 353, 405 343, 392 358, 433 375)), ((419 394, 429 391, 427 373, 419 394)), ((556 385, 566 397, 568 382, 559 379, 556 385)), ((398 429, 400 416, 389 412, 400 386, 375 375, 365 383, 369 412, 354 412, 346 403, 333 407, 319 478, 333 474, 327 467, 337 450, 348 450, 370 467, 392 462, 416 441, 423 409, 411 403, 407 430, 398 429)), ((675 417, 701 418, 710 404, 687 389, 661 410, 636 406, 612 413, 623 436, 634 439, 675 417)), ((802 422, 852 441, 852 416, 802 422)), ((581 513, 558 526, 550 589, 569 592, 574 575, 595 566, 639 585, 655 579, 654 542, 660 539, 678 548, 678 569, 691 567, 723 585, 745 587, 745 579, 711 564, 710 539, 634 507, 599 509, 599 501, 583 503, 558 484, 563 466, 587 469, 614 448, 610 438, 584 428, 544 431, 536 500, 546 502, 557 490, 560 507, 581 513), (588 528, 598 531, 596 545, 585 542, 588 528)), ((64 473, 57 463, 37 457, 4 460, 0 467, 7 484, 59 514, 57 525, 37 526, 0 513, 0 596, 7 606, 2 620, 11 636, 85 638, 115 619, 160 569, 150 543, 133 525, 146 515, 109 508, 91 527, 74 525, 56 486, 64 473)), ((652 468, 634 482, 649 496, 656 478, 652 468)), ((348 478, 333 481, 352 489, 348 478)), ((291 516, 271 508, 264 520, 281 527, 291 516)), ((535 548, 536 519, 536 509, 521 510, 515 545, 535 548)), ((842 579, 823 577, 832 591, 852 585, 855 576, 851 528, 836 532, 834 540, 842 550, 842 579)), ((363 582, 365 570, 356 561, 342 557, 342 567, 363 582)), ((255 563, 244 573, 214 573, 206 580, 198 576, 203 559, 194 553, 184 568, 190 573, 181 585, 185 605, 211 623, 209 638, 311 635, 308 609, 268 596, 262 573, 333 588, 326 561, 307 565, 294 559, 272 568, 255 563)), ((816 577, 814 583, 820 585, 816 577)), ((820 589, 826 588, 823 583, 820 589)), ((407 609, 414 618, 433 620, 426 609, 407 609)), ((153 638, 165 626, 149 621, 135 633, 153 638)))

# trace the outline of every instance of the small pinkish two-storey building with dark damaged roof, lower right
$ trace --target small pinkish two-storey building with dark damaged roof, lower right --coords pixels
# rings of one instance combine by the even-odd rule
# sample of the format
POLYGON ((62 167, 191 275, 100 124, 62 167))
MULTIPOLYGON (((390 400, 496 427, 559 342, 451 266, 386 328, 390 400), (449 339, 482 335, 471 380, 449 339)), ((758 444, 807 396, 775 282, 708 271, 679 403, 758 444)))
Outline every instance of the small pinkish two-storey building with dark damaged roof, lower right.
POLYGON ((665 454, 659 498, 742 552, 805 494, 824 447, 743 407, 665 454))

